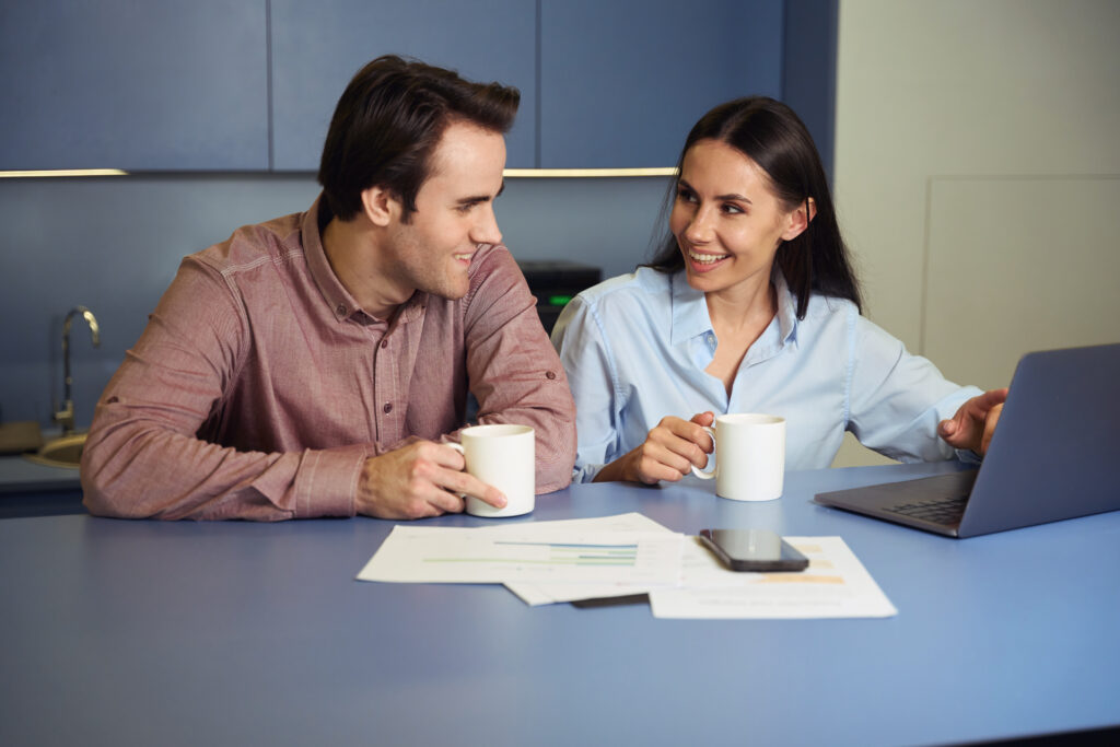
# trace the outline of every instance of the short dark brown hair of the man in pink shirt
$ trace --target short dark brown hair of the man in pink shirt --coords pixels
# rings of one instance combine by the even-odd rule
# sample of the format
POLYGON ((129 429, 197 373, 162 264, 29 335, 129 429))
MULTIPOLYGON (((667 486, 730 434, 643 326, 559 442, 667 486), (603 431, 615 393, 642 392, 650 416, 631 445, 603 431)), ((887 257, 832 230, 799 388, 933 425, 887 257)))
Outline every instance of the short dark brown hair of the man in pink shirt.
POLYGON ((472 83, 393 55, 377 57, 349 82, 330 120, 319 162, 327 208, 348 221, 362 211, 362 193, 382 186, 404 205, 408 223, 448 124, 466 121, 505 133, 520 101, 514 87, 472 83))

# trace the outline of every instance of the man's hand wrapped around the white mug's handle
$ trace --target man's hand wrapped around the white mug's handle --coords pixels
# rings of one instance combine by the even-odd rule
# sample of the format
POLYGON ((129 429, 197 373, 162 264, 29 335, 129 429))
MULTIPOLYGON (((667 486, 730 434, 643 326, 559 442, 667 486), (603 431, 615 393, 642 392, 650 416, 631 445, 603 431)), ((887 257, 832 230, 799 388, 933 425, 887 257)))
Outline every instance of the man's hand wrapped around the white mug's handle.
POLYGON ((355 505, 357 513, 379 519, 421 519, 461 513, 460 494, 495 508, 505 506, 502 493, 463 471, 463 455, 433 441, 370 457, 362 467, 355 505))

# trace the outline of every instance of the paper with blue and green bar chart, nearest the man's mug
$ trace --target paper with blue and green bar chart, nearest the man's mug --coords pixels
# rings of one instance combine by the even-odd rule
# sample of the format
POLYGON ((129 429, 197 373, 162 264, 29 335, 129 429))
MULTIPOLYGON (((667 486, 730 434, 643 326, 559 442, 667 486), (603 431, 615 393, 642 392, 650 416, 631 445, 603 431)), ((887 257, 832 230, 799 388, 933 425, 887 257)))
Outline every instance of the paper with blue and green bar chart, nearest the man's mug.
POLYGON ((675 585, 684 536, 530 522, 506 527, 393 527, 357 575, 363 581, 675 585))

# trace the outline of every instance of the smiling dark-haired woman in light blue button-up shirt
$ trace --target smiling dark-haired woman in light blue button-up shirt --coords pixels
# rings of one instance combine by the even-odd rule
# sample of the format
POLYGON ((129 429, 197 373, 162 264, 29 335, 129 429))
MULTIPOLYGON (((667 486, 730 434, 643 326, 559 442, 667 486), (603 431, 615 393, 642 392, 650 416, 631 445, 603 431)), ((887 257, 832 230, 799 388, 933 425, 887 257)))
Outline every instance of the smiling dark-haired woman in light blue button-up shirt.
POLYGON ((577 480, 681 479, 725 412, 784 417, 787 469, 828 467, 844 430, 902 460, 987 449, 1007 390, 945 381, 860 316, 820 156, 788 106, 739 99, 692 128, 669 227, 650 265, 577 296, 553 330, 577 480))

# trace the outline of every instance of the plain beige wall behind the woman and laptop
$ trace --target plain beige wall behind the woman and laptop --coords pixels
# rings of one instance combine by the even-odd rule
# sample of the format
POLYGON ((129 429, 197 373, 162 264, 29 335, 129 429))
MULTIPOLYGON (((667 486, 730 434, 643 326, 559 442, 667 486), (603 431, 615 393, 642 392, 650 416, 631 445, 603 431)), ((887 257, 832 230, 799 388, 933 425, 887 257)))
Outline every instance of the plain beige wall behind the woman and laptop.
POLYGON ((1118 40, 1116 0, 840 0, 841 227, 868 316, 950 379, 1120 340, 1118 40))

